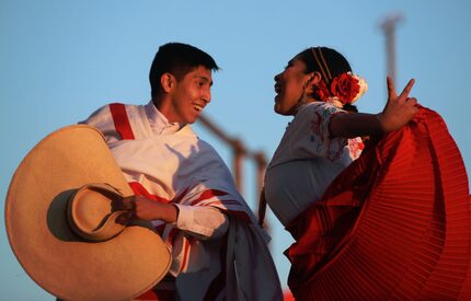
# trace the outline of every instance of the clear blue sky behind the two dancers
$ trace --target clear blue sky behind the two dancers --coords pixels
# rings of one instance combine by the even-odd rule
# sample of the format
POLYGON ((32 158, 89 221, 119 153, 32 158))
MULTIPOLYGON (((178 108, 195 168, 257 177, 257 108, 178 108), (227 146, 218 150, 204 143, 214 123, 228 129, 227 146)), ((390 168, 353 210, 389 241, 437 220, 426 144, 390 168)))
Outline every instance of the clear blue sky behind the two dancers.
MULTIPOLYGON (((437 111, 471 169, 471 2, 429 1, 26 1, 0 0, 0 299, 53 300, 16 262, 4 231, 3 202, 21 160, 44 136, 87 118, 108 102, 149 101, 148 71, 157 48, 184 42, 208 51, 214 74, 206 114, 229 135, 269 158, 290 118, 273 113, 274 80, 309 46, 329 46, 367 79, 358 108, 378 113, 386 102, 384 34, 379 24, 401 13, 397 86, 437 111)), ((200 125, 200 137, 228 164, 230 150, 200 125)), ((254 166, 244 164, 253 209, 254 166)), ((290 239, 269 216, 272 253, 286 286, 290 239)))

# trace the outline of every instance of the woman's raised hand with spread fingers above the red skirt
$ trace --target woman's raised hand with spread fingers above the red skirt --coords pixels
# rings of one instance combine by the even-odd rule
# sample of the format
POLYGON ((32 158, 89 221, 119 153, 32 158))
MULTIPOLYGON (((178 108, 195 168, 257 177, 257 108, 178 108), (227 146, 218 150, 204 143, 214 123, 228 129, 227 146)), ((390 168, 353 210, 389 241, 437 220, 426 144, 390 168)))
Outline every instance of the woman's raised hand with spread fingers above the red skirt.
POLYGON ((417 100, 415 97, 409 97, 409 93, 415 82, 413 79, 409 81, 399 96, 395 93, 394 84, 390 77, 388 77, 387 81, 388 103, 382 113, 377 115, 383 132, 394 131, 405 126, 418 111, 415 106, 417 100))

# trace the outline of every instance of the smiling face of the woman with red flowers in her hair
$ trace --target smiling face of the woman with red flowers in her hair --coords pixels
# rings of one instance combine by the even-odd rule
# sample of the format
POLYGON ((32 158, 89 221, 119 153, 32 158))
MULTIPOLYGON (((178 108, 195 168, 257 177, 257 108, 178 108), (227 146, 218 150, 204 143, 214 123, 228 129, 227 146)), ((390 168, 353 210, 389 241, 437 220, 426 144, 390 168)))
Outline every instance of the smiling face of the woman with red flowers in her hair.
POLYGON ((295 115, 296 105, 305 93, 309 74, 305 73, 306 63, 295 57, 285 70, 275 76, 275 112, 280 115, 295 115))

